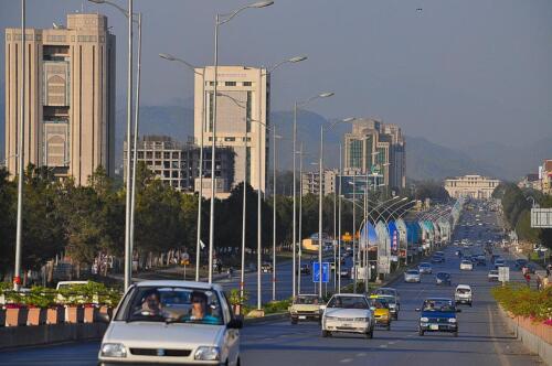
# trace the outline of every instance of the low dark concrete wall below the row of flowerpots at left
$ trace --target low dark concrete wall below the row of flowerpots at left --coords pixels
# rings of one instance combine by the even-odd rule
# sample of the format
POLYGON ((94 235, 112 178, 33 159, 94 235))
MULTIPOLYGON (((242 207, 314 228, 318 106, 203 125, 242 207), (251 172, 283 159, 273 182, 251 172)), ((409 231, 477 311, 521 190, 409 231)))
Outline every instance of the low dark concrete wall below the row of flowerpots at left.
POLYGON ((105 323, 0 327, 0 349, 71 341, 99 340, 105 323))

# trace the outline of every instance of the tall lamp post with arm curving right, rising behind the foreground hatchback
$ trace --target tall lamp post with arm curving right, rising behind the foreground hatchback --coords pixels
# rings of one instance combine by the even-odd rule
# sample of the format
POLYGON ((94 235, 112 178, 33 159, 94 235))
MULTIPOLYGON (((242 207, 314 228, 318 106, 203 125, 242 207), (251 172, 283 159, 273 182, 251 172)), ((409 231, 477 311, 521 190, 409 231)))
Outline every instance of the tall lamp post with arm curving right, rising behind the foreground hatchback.
MULTIPOLYGON (((131 0, 129 0, 131 1, 131 0)), ((257 1, 244 7, 238 8, 232 13, 227 14, 216 14, 215 25, 214 25, 214 86, 213 86, 213 121, 211 129, 211 155, 213 163, 211 164, 211 209, 210 209, 210 222, 209 222, 209 283, 213 282, 213 248, 214 248, 214 191, 215 191, 215 170, 214 170, 214 159, 215 159, 215 144, 216 144, 216 98, 217 98, 217 84, 219 84, 219 28, 232 19, 234 19, 238 13, 246 9, 258 9, 272 6, 274 1, 257 1)))

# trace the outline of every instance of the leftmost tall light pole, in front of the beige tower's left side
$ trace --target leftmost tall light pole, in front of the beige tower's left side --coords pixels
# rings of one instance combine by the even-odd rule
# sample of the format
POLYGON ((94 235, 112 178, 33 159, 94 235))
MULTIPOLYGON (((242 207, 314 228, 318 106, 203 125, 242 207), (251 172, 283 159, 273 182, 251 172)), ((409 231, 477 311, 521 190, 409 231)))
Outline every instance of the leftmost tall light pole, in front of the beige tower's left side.
POLYGON ((13 268, 13 290, 19 291, 21 284, 21 232, 23 226, 23 144, 25 126, 25 0, 21 0, 21 116, 19 120, 19 180, 18 180, 18 223, 15 229, 15 263, 13 268))

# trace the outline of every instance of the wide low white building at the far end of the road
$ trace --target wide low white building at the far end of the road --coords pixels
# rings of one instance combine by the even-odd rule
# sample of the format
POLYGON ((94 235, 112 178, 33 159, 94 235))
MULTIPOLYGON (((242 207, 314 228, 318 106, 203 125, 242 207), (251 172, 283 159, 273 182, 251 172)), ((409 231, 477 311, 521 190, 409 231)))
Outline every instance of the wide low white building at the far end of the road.
POLYGON ((500 184, 499 180, 481 175, 464 175, 445 180, 445 190, 453 198, 460 195, 471 198, 490 198, 495 189, 500 184))

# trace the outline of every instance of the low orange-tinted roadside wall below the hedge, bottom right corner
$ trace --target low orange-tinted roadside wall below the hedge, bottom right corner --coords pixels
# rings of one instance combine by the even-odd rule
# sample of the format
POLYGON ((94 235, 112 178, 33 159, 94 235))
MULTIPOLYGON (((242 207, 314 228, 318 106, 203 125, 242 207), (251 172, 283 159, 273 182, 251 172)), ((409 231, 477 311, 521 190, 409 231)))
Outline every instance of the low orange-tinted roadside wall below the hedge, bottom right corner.
POLYGON ((499 313, 506 325, 532 353, 538 354, 546 365, 552 366, 552 326, 533 323, 531 319, 509 315, 501 306, 499 313))

